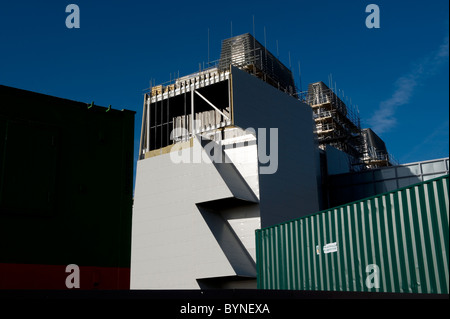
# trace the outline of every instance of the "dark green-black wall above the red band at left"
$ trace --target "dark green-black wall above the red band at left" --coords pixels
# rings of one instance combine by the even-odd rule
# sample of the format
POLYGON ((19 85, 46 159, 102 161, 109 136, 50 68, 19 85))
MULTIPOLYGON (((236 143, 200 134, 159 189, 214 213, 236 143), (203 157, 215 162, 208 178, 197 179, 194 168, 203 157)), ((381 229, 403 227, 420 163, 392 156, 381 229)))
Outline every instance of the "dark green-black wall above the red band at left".
POLYGON ((134 112, 0 96, 0 263, 130 267, 134 112))

